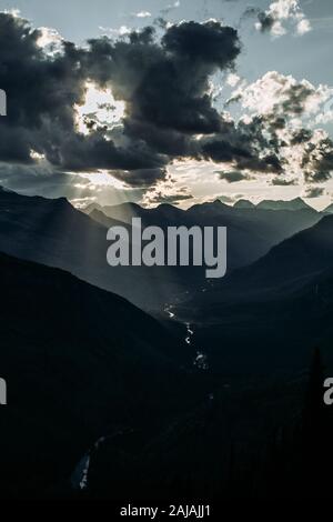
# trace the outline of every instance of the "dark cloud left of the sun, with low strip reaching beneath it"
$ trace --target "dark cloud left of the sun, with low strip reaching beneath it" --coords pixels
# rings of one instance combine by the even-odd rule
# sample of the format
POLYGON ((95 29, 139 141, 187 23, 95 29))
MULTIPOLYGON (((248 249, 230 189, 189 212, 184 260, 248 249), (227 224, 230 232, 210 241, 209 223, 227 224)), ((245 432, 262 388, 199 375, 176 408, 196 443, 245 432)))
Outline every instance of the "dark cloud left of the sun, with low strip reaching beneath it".
POLYGON ((124 150, 100 130, 89 135, 77 131, 74 104, 83 102, 89 78, 85 51, 63 42, 62 52, 50 57, 38 46, 40 37, 27 21, 0 13, 0 84, 9 106, 8 117, 0 121, 0 160, 31 164, 33 150, 57 169, 73 171, 158 172, 164 167, 167 160, 144 144, 130 143, 124 150))

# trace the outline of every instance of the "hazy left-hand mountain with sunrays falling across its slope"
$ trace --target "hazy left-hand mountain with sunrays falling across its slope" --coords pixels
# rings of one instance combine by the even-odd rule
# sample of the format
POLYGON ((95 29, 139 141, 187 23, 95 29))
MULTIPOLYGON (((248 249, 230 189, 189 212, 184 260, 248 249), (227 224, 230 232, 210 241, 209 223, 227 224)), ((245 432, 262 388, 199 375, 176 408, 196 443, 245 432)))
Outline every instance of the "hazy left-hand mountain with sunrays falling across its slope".
MULTIPOLYGON (((119 223, 113 220, 112 224, 119 223)), ((107 232, 105 225, 75 210, 64 198, 49 200, 0 192, 3 252, 72 272, 141 308, 163 307, 178 291, 175 277, 164 271, 161 278, 154 268, 111 268, 107 263, 107 232)))

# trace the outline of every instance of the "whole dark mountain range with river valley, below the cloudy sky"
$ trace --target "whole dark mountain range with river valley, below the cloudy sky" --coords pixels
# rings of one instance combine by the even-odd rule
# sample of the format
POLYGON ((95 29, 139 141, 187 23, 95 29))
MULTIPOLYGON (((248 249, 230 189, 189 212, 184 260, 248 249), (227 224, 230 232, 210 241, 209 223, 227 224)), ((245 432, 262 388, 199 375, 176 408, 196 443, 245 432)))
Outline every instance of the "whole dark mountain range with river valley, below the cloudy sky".
POLYGON ((307 208, 127 203, 87 215, 64 199, 0 191, 0 362, 10 404, 0 418, 2 493, 72 494, 87 455, 90 494, 108 498, 182 491, 199 468, 203 483, 213 475, 220 484, 218 468, 228 482, 233 444, 253 468, 268 433, 300 414, 314 348, 333 369, 332 238, 333 217, 307 208), (232 270, 216 281, 110 271, 107 230, 130 229, 133 215, 163 229, 226 225, 232 270), (172 321, 111 292, 149 309, 163 283, 161 312, 174 280, 172 321), (193 364, 198 352, 205 370, 193 364))

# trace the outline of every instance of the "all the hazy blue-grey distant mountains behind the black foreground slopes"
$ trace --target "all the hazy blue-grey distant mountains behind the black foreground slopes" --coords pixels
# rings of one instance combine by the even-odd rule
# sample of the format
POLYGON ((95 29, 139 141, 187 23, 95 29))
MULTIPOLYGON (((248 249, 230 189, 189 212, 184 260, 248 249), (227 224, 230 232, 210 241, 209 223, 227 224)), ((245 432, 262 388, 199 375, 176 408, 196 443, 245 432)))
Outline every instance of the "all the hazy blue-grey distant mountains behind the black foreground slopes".
POLYGON ((163 204, 143 209, 125 203, 109 209, 112 218, 93 210, 91 218, 65 199, 28 198, 0 192, 0 249, 8 254, 61 268, 100 288, 119 293, 145 310, 161 310, 179 294, 205 283, 205 267, 117 267, 107 263, 107 229, 142 225, 228 227, 229 271, 249 264, 289 235, 315 223, 314 210, 260 211, 232 209, 220 201, 188 211, 163 204))

